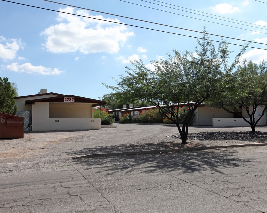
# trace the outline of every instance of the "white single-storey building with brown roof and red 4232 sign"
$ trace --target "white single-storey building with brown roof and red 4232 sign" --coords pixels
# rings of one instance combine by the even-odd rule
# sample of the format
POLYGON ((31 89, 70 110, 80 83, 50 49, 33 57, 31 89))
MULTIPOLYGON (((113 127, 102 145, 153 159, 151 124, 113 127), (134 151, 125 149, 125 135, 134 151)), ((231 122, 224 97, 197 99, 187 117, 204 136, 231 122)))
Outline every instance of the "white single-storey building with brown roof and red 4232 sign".
POLYGON ((101 129, 94 107, 105 101, 41 90, 36 95, 15 97, 15 103, 18 112, 29 113, 30 131, 50 131, 101 129))

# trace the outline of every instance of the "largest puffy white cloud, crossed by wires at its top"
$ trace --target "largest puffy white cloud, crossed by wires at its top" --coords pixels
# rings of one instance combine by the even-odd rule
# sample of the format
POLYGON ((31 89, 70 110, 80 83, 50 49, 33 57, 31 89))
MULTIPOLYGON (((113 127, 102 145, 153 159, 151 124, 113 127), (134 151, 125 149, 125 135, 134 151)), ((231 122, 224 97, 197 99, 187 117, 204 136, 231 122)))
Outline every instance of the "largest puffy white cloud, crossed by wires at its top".
MULTIPOLYGON (((59 11, 75 13, 72 7, 59 11)), ((57 20, 60 23, 46 28, 41 33, 47 36, 46 43, 43 44, 47 51, 53 53, 80 51, 83 54, 103 51, 117 53, 128 37, 134 35, 124 25, 103 21, 119 22, 118 19, 105 19, 101 15, 92 16, 85 10, 78 10, 76 14, 101 20, 59 13, 57 20)))

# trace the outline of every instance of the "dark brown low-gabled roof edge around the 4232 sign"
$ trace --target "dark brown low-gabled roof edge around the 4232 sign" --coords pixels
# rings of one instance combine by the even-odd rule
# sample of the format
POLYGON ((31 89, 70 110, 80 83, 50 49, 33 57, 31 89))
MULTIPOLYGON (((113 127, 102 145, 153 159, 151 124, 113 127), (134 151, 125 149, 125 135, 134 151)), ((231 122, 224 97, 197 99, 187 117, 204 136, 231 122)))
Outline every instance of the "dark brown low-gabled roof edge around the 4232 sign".
MULTIPOLYGON (((53 94, 53 95, 58 95, 54 97, 49 97, 49 98, 39 98, 39 99, 31 99, 31 100, 26 100, 25 104, 34 104, 35 101, 38 102, 66 102, 64 101, 65 98, 74 98, 74 103, 91 103, 93 107, 95 106, 100 106, 106 104, 105 101, 100 101, 96 99, 89 99, 89 98, 84 98, 80 96, 74 96, 74 95, 62 95, 62 94, 57 94, 57 93, 44 93, 44 94, 53 94)), ((39 96, 39 95, 34 95, 39 96)), ((34 97, 32 96, 32 97, 34 97)), ((29 97, 29 96, 27 96, 29 97)), ((23 97, 16 97, 17 98, 23 98, 23 97)), ((67 103, 67 102, 66 102, 67 103)))

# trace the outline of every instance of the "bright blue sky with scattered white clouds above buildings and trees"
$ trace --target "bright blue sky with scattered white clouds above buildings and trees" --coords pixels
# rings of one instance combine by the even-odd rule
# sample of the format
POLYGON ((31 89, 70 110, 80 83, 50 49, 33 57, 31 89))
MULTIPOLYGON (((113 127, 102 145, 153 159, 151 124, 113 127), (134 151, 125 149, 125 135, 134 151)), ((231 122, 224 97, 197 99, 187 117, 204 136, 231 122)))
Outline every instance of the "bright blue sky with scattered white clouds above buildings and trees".
POLYGON ((267 59, 267 0, 0 0, 0 76, 19 96, 40 89, 101 99, 130 61, 195 52, 203 28, 230 62, 267 59))

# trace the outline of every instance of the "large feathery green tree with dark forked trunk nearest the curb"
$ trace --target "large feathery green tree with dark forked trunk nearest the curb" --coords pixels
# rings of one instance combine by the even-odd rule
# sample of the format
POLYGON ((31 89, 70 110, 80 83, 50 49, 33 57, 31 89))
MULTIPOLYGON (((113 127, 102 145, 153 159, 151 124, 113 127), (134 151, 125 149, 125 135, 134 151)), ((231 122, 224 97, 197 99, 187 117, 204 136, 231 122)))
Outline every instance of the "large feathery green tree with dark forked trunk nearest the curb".
POLYGON ((113 78, 117 86, 103 84, 114 91, 114 97, 146 100, 157 106, 176 124, 182 143, 186 143, 188 125, 197 107, 228 91, 232 71, 245 50, 243 48, 229 65, 228 43, 222 40, 216 48, 205 30, 202 41, 197 43, 195 54, 174 50, 174 55, 167 54, 167 60, 151 61, 154 69, 146 67, 142 60, 134 61, 132 67, 126 67, 127 75, 113 78), (181 107, 188 110, 182 127, 175 110, 181 107))

